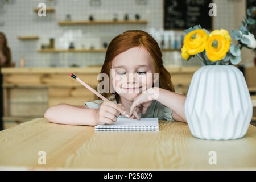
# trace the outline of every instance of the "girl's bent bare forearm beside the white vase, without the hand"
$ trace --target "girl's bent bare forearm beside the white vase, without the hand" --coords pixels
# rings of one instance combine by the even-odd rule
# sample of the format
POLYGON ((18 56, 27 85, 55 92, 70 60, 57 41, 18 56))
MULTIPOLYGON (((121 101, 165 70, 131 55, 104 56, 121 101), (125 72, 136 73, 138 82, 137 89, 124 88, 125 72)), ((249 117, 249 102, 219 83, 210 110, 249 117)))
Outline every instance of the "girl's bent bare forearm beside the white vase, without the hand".
MULTIPOLYGON (((187 122, 185 119, 186 96, 162 88, 158 89, 159 93, 156 100, 172 110, 172 118, 174 118, 175 121, 187 122)), ((156 90, 155 92, 157 92, 156 90)))

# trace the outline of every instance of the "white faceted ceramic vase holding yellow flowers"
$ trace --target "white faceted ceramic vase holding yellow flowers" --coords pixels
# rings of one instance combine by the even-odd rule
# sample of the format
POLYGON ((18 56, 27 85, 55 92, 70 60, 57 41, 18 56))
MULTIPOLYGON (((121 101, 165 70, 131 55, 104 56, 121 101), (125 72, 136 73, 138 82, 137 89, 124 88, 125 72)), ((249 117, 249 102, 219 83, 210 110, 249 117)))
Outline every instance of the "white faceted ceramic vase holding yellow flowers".
POLYGON ((185 117, 192 135, 229 140, 246 134, 253 105, 242 72, 233 65, 207 65, 192 77, 185 117))

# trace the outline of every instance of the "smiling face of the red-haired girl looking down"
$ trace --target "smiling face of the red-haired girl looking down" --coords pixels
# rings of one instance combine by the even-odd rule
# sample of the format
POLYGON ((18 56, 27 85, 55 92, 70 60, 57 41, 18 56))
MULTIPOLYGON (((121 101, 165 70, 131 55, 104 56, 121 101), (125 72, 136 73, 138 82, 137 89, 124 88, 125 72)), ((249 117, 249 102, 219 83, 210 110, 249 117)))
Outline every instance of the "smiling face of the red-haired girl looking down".
POLYGON ((122 52, 112 60, 113 88, 128 101, 152 87, 154 73, 154 60, 143 46, 122 52))

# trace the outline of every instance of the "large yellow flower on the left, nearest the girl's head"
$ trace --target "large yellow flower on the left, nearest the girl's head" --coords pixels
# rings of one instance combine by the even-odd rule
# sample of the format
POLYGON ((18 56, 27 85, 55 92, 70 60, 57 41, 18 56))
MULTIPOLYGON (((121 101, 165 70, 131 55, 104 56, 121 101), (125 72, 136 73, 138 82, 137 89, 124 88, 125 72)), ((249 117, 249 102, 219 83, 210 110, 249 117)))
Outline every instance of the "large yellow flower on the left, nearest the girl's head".
POLYGON ((184 47, 189 55, 203 52, 208 39, 207 32, 197 29, 189 32, 184 39, 184 47))

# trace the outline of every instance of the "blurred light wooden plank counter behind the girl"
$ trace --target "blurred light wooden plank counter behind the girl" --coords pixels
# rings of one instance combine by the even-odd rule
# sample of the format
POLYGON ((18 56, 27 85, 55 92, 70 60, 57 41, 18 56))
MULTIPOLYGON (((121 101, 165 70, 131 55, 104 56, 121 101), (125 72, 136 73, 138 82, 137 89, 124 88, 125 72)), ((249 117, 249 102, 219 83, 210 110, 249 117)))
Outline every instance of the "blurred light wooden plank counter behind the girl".
MULTIPOLYGON (((186 94, 193 73, 200 67, 166 67, 175 92, 186 94)), ((4 128, 33 118, 43 118, 49 106, 83 105, 96 96, 69 76, 74 73, 97 89, 100 66, 84 68, 2 68, 4 128)))

